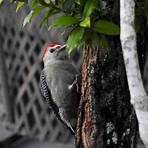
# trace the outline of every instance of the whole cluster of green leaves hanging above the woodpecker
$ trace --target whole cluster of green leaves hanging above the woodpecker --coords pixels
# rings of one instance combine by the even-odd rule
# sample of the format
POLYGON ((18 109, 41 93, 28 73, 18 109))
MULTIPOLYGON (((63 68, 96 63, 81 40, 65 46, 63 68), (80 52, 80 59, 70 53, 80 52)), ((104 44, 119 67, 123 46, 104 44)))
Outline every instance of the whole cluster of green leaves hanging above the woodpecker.
MULTIPOLYGON (((26 0, 10 0, 17 3, 18 12, 26 0)), ((69 53, 80 46, 100 45, 102 48, 108 47, 106 36, 119 35, 120 29, 106 15, 109 13, 105 1, 103 0, 28 0, 30 13, 25 17, 23 25, 44 10, 44 18, 40 26, 46 25, 48 29, 53 27, 70 27, 71 32, 67 39, 69 53), (48 24, 51 16, 60 16, 48 24)))

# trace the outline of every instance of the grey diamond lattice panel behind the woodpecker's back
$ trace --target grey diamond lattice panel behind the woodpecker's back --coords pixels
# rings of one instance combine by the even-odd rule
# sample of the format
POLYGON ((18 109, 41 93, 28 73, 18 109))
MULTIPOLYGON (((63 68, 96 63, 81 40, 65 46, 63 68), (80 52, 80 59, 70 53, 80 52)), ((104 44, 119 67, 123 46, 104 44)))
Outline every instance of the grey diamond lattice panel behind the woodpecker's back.
POLYGON ((46 42, 41 36, 18 31, 9 24, 0 27, 2 48, 9 74, 16 130, 22 134, 51 141, 70 141, 70 133, 63 129, 55 115, 41 100, 39 75, 40 49, 46 42))

